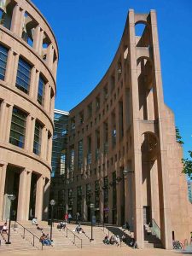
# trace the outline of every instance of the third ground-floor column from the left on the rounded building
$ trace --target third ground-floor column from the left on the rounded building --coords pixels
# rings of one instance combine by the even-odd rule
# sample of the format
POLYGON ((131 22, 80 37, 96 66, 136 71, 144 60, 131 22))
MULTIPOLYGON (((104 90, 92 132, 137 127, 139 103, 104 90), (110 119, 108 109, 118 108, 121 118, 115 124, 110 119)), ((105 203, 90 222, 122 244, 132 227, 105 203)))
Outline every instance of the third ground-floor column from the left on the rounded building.
POLYGON ((43 218, 44 183, 45 178, 42 176, 38 177, 35 203, 35 216, 38 218, 38 221, 41 221, 43 218))

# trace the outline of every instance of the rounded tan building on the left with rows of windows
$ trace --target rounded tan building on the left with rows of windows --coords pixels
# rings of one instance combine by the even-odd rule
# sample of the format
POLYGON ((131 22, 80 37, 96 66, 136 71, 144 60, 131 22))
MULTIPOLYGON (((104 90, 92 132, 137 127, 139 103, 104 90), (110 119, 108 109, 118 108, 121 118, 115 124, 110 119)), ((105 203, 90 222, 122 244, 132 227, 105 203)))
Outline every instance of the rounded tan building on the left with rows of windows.
POLYGON ((31 1, 2 2, 0 219, 9 218, 15 194, 13 218, 41 220, 49 207, 58 47, 31 1))

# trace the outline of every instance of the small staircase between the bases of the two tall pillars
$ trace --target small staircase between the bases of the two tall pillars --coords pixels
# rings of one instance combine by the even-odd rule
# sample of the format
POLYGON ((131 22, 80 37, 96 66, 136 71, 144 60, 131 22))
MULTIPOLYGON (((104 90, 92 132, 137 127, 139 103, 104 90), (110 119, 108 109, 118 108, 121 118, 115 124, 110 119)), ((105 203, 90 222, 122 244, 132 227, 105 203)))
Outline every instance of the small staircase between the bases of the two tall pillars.
POLYGON ((163 248, 160 239, 152 232, 148 224, 144 224, 144 247, 163 248))

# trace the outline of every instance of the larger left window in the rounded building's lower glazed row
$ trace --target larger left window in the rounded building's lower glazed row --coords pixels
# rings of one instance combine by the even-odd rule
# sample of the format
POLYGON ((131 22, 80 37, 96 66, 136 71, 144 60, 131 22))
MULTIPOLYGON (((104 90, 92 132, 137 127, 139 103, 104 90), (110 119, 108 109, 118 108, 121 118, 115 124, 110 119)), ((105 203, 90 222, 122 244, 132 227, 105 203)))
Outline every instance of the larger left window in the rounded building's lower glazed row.
POLYGON ((18 108, 13 108, 9 143, 24 148, 26 135, 26 113, 18 108))

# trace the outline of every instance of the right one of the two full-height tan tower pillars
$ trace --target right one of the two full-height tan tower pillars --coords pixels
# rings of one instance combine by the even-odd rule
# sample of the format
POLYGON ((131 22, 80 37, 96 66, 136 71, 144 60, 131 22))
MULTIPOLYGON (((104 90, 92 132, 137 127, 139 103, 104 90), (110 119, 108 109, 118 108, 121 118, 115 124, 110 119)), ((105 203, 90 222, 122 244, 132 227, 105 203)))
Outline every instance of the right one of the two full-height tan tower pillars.
POLYGON ((159 195, 160 195, 160 236, 166 249, 172 248, 172 222, 170 203, 169 170, 167 170, 167 147, 166 147, 166 117, 164 97, 162 90, 160 49, 157 31, 156 13, 150 11, 151 16, 151 38, 154 56, 154 111, 155 117, 159 119, 160 154, 158 157, 159 195))

